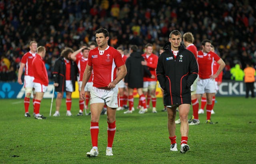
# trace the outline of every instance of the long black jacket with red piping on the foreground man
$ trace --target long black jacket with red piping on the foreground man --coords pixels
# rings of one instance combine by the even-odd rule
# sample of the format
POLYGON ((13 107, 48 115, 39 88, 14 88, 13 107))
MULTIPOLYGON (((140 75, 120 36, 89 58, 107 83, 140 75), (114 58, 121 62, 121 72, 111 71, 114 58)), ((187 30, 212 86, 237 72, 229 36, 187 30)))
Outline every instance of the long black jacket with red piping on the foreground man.
POLYGON ((190 86, 198 76, 195 56, 181 45, 175 59, 170 42, 164 45, 164 50, 156 68, 157 79, 164 90, 164 105, 191 104, 190 86))

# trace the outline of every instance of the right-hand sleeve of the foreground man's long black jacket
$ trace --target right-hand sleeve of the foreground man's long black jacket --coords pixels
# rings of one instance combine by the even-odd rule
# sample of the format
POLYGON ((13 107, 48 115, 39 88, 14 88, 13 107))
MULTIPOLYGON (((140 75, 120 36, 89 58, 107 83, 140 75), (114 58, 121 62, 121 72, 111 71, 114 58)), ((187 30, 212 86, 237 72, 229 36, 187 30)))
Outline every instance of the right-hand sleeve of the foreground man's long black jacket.
POLYGON ((190 86, 193 84, 193 82, 196 80, 198 76, 198 64, 196 62, 196 58, 192 52, 190 53, 190 64, 189 64, 189 75, 187 79, 187 86, 190 88, 190 86))

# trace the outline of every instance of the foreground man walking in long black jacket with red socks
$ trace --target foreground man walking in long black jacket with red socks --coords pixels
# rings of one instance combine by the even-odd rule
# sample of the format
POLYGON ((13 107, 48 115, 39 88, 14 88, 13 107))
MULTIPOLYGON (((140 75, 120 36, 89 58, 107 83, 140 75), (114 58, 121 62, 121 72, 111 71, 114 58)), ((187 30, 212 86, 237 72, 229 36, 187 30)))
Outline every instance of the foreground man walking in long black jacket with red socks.
POLYGON ((156 76, 164 90, 164 105, 168 113, 168 131, 171 151, 178 151, 176 144, 176 108, 179 108, 181 147, 186 153, 188 146, 188 113, 191 104, 190 86, 198 76, 198 65, 194 54, 180 45, 182 38, 178 30, 170 33, 169 42, 158 58, 156 76))

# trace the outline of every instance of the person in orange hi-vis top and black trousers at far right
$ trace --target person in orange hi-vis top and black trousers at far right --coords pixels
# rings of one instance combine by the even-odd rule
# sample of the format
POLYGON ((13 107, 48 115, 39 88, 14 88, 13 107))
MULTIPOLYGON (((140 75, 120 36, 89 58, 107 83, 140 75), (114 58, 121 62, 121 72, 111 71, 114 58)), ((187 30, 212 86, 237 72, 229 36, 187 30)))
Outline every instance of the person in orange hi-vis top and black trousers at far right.
POLYGON ((244 83, 246 86, 246 95, 245 98, 249 97, 249 91, 251 91, 252 98, 254 98, 254 82, 255 82, 255 69, 250 65, 246 64, 244 69, 244 83))

